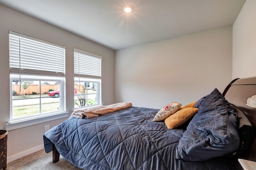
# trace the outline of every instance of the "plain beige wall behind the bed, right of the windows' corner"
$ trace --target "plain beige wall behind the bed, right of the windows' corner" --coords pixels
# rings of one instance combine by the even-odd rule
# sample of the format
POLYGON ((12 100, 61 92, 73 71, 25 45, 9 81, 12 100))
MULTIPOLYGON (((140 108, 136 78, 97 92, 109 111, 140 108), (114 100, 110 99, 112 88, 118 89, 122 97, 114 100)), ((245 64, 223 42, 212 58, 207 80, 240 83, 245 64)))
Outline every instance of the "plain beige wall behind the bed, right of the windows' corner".
POLYGON ((115 100, 183 106, 232 80, 232 26, 115 52, 115 100))

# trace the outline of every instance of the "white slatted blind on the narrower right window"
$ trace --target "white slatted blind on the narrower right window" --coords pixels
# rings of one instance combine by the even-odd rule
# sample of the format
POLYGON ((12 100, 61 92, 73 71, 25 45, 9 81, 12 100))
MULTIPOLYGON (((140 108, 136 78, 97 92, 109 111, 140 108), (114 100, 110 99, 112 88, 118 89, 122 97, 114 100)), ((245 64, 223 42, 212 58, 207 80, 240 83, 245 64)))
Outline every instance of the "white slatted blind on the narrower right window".
POLYGON ((101 78, 102 57, 74 49, 74 76, 101 78))

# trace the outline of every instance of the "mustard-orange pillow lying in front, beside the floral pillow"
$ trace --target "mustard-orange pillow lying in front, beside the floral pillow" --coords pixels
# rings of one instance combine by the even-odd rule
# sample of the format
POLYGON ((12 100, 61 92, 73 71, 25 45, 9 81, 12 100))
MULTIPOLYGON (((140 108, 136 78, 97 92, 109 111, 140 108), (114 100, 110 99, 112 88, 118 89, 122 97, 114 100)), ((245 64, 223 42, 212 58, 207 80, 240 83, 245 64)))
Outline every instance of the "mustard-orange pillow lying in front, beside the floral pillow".
POLYGON ((196 112, 198 112, 198 108, 182 107, 180 110, 176 111, 176 113, 164 119, 164 123, 168 129, 177 129, 190 121, 196 112))

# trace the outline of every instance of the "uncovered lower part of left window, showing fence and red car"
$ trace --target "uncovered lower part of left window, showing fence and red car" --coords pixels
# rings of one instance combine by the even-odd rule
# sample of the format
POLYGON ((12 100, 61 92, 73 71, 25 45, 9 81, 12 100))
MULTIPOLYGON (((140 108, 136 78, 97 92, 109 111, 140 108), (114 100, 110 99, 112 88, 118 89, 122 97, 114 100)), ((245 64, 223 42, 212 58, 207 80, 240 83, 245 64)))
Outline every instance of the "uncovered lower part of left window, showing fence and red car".
POLYGON ((63 111, 63 79, 10 76, 12 81, 12 119, 63 111))

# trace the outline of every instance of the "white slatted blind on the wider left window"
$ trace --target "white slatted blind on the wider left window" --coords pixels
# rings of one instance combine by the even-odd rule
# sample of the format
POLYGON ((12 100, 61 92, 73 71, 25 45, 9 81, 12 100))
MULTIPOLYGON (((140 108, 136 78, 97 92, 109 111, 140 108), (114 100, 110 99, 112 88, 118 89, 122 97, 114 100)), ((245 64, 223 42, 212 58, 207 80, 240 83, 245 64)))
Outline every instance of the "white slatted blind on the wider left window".
POLYGON ((9 32, 10 73, 65 76, 65 47, 9 32))

